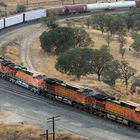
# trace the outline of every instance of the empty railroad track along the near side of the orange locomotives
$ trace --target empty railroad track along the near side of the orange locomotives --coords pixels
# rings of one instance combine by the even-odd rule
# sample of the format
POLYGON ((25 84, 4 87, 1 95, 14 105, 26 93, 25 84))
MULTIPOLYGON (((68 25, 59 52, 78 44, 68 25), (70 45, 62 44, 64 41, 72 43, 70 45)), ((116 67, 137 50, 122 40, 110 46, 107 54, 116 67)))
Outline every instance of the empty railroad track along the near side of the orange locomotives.
MULTIPOLYGON (((9 81, 7 81, 7 82, 9 82, 9 81)), ((32 101, 43 103, 44 105, 48 105, 48 104, 52 105, 53 104, 53 106, 56 106, 56 107, 60 106, 63 109, 73 110, 73 111, 76 111, 76 112, 79 112, 79 113, 82 113, 82 114, 84 113, 84 114, 89 115, 91 117, 92 116, 97 117, 97 118, 100 117, 100 119, 104 119, 104 120, 112 121, 113 123, 116 122, 116 123, 120 123, 121 125, 128 126, 127 124, 122 123, 121 121, 120 122, 119 121, 115 121, 114 118, 112 118, 110 116, 108 116, 107 118, 106 117, 104 118, 104 117, 102 117, 102 116, 100 116, 99 114, 96 114, 96 113, 92 114, 90 112, 86 112, 84 110, 80 110, 79 108, 73 108, 71 105, 69 105, 69 104, 67 104, 65 102, 59 101, 57 99, 53 99, 52 100, 52 99, 50 99, 50 98, 48 98, 46 96, 43 96, 43 95, 31 92, 28 89, 26 90, 25 88, 19 87, 18 85, 15 85, 15 84, 10 83, 10 82, 9 82, 10 85, 8 85, 7 82, 3 82, 3 83, 0 84, 1 85, 0 86, 0 92, 5 92, 7 90, 8 93, 10 93, 12 95, 16 95, 16 96, 19 96, 19 97, 22 97, 22 98, 25 98, 25 99, 31 99, 32 101), (15 90, 15 88, 12 87, 11 85, 17 86, 18 88, 16 88, 16 90, 15 90), (23 91, 23 89, 24 89, 24 91, 23 91)), ((25 117, 25 115, 24 115, 24 117, 25 117)), ((34 120, 36 120, 36 119, 34 119, 34 120)))

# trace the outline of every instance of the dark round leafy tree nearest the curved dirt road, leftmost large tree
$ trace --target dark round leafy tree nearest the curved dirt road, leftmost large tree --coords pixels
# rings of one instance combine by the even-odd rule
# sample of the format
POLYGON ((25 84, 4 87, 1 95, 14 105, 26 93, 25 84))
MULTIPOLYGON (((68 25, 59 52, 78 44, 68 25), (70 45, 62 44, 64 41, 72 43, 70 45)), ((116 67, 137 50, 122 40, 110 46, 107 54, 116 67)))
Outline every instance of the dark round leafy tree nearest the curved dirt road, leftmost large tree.
POLYGON ((43 32, 40 36, 41 47, 49 53, 63 53, 74 47, 73 29, 67 27, 57 27, 48 32, 43 32))

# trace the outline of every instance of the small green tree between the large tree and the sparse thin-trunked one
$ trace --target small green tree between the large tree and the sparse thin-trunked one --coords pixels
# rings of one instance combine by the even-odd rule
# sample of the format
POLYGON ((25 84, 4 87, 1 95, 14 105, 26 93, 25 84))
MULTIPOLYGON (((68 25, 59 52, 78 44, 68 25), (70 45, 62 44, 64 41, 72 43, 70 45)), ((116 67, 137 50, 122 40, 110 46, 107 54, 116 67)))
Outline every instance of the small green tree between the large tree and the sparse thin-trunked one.
POLYGON ((118 61, 112 61, 109 67, 103 71, 103 81, 105 83, 115 86, 116 80, 120 78, 118 64, 118 61))

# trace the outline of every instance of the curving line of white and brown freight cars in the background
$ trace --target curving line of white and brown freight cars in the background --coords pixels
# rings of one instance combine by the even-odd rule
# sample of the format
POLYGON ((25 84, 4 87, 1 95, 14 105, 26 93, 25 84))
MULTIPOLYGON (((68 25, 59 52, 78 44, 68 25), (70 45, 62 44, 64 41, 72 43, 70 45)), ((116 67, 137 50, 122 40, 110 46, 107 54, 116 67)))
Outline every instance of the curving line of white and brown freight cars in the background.
POLYGON ((48 16, 49 12, 53 12, 56 15, 69 15, 76 13, 86 13, 93 10, 106 10, 106 9, 119 9, 119 8, 131 8, 140 7, 140 0, 136 1, 119 1, 111 3, 94 3, 94 4, 79 4, 79 5, 67 5, 50 9, 38 9, 33 11, 24 12, 14 16, 0 19, 0 29, 17 25, 24 22, 40 19, 48 16))

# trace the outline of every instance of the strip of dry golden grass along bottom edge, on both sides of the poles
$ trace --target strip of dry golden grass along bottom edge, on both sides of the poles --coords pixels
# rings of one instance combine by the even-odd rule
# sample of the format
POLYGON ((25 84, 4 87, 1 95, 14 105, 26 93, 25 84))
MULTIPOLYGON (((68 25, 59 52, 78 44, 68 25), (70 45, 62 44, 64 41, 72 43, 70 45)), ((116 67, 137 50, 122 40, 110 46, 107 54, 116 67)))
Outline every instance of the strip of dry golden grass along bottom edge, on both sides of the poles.
MULTIPOLYGON (((0 124, 1 140, 44 140, 45 136, 41 136, 41 128, 35 125, 12 125, 0 124)), ((52 135, 49 135, 52 140, 52 135)), ((56 140, 88 140, 87 138, 74 135, 69 132, 58 133, 56 140)))

